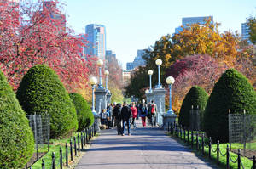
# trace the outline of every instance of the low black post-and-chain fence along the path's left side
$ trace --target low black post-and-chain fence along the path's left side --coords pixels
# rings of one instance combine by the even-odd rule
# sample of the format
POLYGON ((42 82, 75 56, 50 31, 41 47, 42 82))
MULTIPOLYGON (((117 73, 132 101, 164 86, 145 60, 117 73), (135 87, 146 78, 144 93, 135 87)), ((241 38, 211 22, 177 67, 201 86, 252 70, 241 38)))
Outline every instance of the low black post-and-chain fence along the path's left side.
MULTIPOLYGON (((74 156, 77 156, 79 152, 85 150, 86 144, 89 144, 91 138, 96 135, 96 123, 92 126, 87 127, 84 131, 78 133, 77 136, 70 139, 69 143, 66 143, 65 149, 60 147, 60 150, 57 154, 55 152, 51 155, 51 161, 44 161, 42 159, 42 169, 46 169, 47 163, 50 169, 60 168, 63 169, 63 166, 69 166, 69 162, 74 160, 74 156), (59 161, 56 161, 56 155, 59 155, 59 161)), ((29 167, 32 169, 32 166, 29 167)))

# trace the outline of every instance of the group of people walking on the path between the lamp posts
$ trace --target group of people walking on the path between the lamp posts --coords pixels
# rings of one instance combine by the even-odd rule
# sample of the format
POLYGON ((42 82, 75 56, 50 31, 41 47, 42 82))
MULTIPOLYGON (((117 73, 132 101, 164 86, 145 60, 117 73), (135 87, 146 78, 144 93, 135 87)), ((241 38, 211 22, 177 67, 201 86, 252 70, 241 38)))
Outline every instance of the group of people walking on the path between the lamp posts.
POLYGON ((110 127, 117 127, 119 135, 125 135, 125 126, 127 126, 128 135, 131 135, 131 125, 136 127, 135 120, 141 117, 143 127, 146 126, 146 119, 148 119, 148 125, 152 127, 156 124, 156 104, 152 100, 149 104, 142 100, 142 103, 132 102, 128 105, 126 102, 122 104, 108 104, 107 109, 102 110, 101 123, 110 127))

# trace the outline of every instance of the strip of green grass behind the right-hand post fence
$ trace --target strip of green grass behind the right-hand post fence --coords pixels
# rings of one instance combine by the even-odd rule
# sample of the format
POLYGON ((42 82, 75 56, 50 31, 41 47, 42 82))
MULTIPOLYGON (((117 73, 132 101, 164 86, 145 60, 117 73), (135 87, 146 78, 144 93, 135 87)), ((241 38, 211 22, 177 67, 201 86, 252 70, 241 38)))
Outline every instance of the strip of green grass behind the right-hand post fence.
MULTIPOLYGON (((185 138, 186 138, 186 142, 188 140, 188 136, 187 136, 187 133, 186 132, 186 135, 185 135, 185 138)), ((194 134, 194 137, 193 137, 193 140, 194 140, 194 144, 193 144, 193 150, 196 152, 197 155, 202 155, 201 152, 202 152, 202 149, 201 149, 201 146, 200 146, 200 149, 197 151, 196 149, 196 132, 193 132, 194 134)), ((172 135, 173 136, 173 135, 172 135)), ((187 145, 190 146, 191 148, 191 132, 189 132, 189 144, 188 143, 185 143, 187 145)), ((201 137, 199 137, 199 143, 201 145, 201 137)), ((183 141, 183 133, 182 133, 182 139, 180 138, 180 141, 183 141)), ((208 139, 205 138, 205 145, 208 145, 208 139)), ((184 142, 183 142, 184 143, 184 142)), ((226 153, 226 149, 227 149, 227 145, 229 144, 219 144, 219 150, 222 152, 222 154, 225 154, 226 153)), ((230 146, 230 145, 229 145, 230 146)), ((236 148, 241 148, 241 144, 232 144, 232 149, 236 149, 236 148)), ((217 149, 217 144, 212 144, 212 149, 213 150, 216 150, 217 149)), ((208 154, 209 154, 209 148, 204 148, 204 157, 205 158, 208 158, 208 154)), ((236 161, 236 158, 237 158, 238 155, 236 155, 235 153, 232 153, 230 152, 230 158, 232 158, 233 161, 236 161)), ((211 161, 214 161, 217 163, 217 153, 213 153, 211 151, 211 161)), ((242 162, 242 165, 244 166, 244 168, 251 168, 253 166, 253 161, 247 159, 246 157, 241 157, 241 162, 242 162)), ((222 168, 225 168, 226 167, 226 156, 222 156, 222 155, 219 155, 219 166, 222 167, 222 168)), ((237 162, 236 163, 232 163, 230 161, 230 169, 236 169, 238 168, 238 165, 237 165, 237 162)))

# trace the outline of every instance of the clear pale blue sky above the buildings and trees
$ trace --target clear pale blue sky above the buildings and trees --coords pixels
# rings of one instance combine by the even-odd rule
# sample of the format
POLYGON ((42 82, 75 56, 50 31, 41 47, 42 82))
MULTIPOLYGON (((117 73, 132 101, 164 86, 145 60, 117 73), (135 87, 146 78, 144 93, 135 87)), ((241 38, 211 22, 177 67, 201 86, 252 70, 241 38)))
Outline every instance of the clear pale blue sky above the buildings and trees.
POLYGON ((182 24, 183 17, 213 16, 220 31, 239 31, 247 17, 256 16, 256 0, 62 0, 67 25, 77 34, 85 25, 102 24, 107 49, 113 50, 125 69, 137 49, 148 48, 182 24))

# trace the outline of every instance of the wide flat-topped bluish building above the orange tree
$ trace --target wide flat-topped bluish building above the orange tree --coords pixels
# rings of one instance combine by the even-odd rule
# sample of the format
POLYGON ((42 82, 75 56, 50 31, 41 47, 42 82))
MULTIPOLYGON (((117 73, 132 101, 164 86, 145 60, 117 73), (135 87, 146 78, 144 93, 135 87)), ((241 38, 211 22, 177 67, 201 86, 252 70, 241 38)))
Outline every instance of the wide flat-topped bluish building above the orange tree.
MULTIPOLYGON (((213 24, 213 16, 201 16, 201 17, 185 17, 182 19, 182 25, 184 28, 189 27, 192 24, 204 25, 207 20, 211 20, 211 24, 213 24)), ((177 34, 180 31, 183 31, 181 26, 175 28, 175 33, 177 34)))

